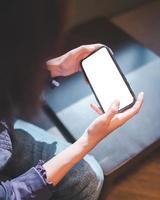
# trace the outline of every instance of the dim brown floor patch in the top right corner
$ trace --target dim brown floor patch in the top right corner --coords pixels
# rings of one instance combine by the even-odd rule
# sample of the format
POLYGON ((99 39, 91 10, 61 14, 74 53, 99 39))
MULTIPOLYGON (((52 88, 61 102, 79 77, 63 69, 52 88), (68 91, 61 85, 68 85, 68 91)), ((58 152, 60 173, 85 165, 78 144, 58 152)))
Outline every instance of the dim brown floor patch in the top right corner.
POLYGON ((150 3, 112 18, 112 22, 144 46, 160 55, 160 1, 150 3))

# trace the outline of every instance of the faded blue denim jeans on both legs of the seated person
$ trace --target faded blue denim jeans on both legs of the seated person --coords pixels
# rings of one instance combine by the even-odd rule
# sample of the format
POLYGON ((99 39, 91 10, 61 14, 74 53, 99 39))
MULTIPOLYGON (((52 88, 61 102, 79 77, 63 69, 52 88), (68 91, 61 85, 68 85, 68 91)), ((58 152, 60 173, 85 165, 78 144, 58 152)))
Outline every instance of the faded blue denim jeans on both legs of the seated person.
MULTIPOLYGON (((39 160, 47 161, 56 156, 68 145, 48 132, 19 120, 13 136, 13 156, 5 169, 5 175, 9 178, 19 176, 39 160)), ((92 156, 87 155, 52 188, 52 196, 43 191, 37 200, 96 200, 102 185, 101 167, 92 156)))

